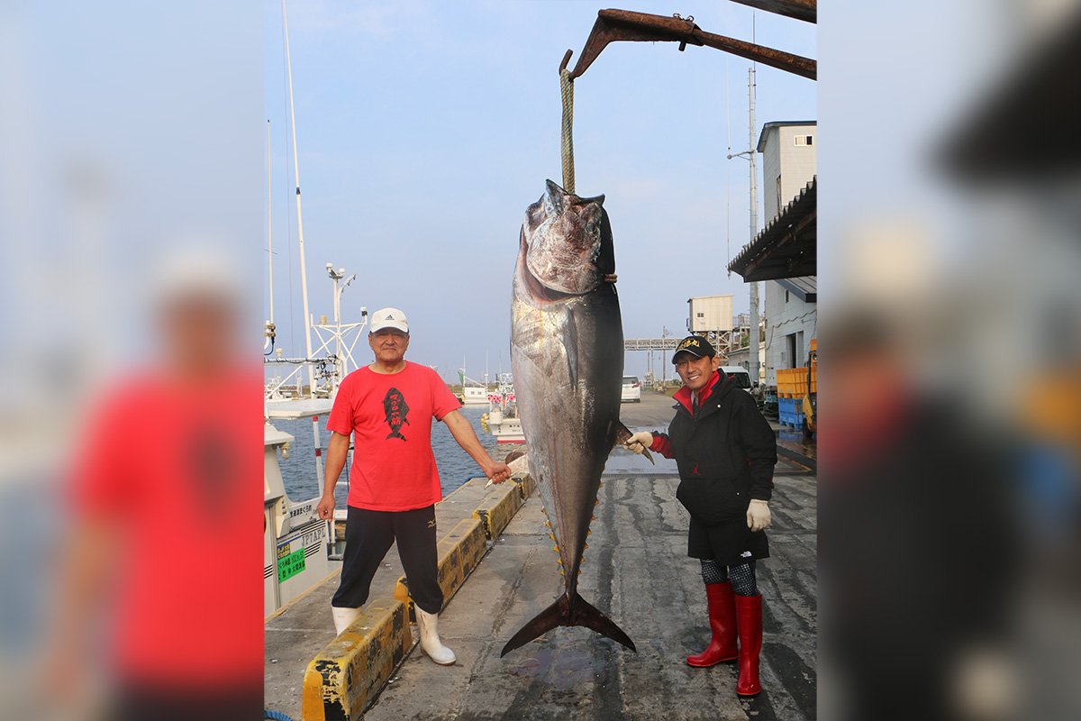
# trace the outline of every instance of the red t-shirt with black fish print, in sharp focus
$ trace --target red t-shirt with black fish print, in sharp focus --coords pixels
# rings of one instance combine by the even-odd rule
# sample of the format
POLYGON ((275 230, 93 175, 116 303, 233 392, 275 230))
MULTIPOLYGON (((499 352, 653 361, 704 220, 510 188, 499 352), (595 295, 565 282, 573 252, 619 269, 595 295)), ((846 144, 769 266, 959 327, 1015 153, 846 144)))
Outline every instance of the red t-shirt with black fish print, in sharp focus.
POLYGON ((431 418, 462 408, 426 365, 399 373, 353 371, 342 380, 326 429, 353 435, 348 505, 368 510, 413 510, 442 499, 431 452, 431 418))

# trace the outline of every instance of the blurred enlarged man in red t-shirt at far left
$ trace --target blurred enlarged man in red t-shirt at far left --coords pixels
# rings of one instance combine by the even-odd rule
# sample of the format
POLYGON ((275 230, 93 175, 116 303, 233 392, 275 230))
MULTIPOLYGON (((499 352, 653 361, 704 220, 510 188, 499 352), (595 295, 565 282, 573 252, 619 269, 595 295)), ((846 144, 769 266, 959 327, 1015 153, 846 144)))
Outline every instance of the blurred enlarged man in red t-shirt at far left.
POLYGON ((170 261, 160 361, 106 392, 77 439, 48 696, 80 708, 104 667, 115 721, 257 718, 263 379, 236 345, 236 276, 212 251, 170 261))

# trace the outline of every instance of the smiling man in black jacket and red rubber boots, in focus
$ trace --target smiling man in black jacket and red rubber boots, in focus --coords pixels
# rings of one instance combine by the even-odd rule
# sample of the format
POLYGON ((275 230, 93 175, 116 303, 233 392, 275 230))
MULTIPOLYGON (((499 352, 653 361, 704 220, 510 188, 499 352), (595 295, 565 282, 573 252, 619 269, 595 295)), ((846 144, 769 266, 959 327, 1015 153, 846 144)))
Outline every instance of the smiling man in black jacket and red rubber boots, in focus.
POLYGON ((702 561, 712 639, 691 666, 739 659, 736 693, 761 691, 762 596, 755 563, 769 558, 763 529, 770 525, 777 441, 755 400, 718 373, 720 359, 706 338, 691 335, 672 356, 683 387, 668 433, 638 432, 626 448, 653 449, 676 458, 676 497, 691 513, 688 556, 702 561), (738 637, 738 651, 736 639, 738 637))

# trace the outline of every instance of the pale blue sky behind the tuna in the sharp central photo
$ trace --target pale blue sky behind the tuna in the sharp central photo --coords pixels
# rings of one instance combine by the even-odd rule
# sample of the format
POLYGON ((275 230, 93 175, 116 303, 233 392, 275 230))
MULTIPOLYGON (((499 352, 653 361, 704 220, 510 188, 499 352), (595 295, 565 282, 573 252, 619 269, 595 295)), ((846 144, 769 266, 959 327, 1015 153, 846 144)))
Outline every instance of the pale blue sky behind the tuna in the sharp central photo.
MULTIPOLYGON (((410 319, 411 360, 449 380, 463 360, 482 376, 485 353, 491 373, 509 371, 522 215, 546 178, 561 181, 559 63, 572 49, 573 67, 608 4, 286 4, 317 319, 333 315, 333 263, 357 273, 344 321, 359 320, 362 306, 395 306, 410 319)), ((672 12, 656 2, 623 8, 672 12)), ((816 55, 813 25, 732 2, 680 10, 693 10, 704 30, 816 55)), ((303 356, 283 46, 281 4, 266 2, 275 320, 279 347, 303 356)), ((750 238, 748 163, 725 159, 730 147, 748 147, 749 67, 708 48, 619 42, 575 82, 576 186, 606 197, 626 337, 683 335, 691 296, 731 293, 735 312, 749 308, 748 286, 725 270, 750 238)), ((814 81, 759 66, 756 142, 765 122, 809 119, 814 81)), ((761 168, 759 176, 761 193, 761 168)), ((266 292, 264 304, 269 315, 266 292)), ((363 362, 370 351, 358 347, 363 362)), ((626 373, 645 370, 644 352, 627 353, 626 373)))

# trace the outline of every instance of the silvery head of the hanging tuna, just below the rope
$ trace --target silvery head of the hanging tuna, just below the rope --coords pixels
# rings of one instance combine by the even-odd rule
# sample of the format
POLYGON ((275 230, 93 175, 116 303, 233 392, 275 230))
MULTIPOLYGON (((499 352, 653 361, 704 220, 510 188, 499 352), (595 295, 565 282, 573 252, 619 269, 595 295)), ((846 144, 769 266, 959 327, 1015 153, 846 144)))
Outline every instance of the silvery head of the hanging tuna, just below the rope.
POLYGON ((547 181, 544 196, 525 211, 525 266, 547 291, 583 295, 613 272, 612 227, 603 202, 604 196, 579 198, 547 181))

